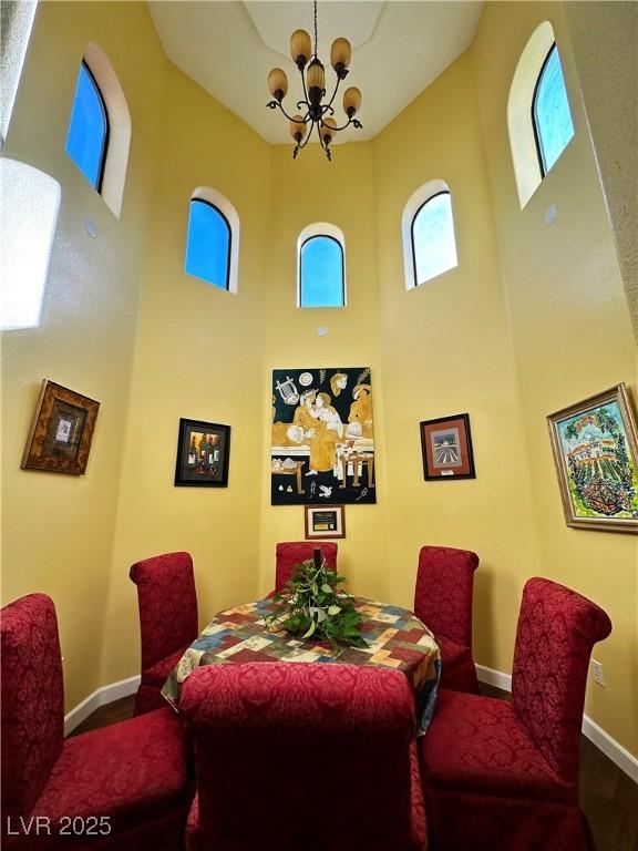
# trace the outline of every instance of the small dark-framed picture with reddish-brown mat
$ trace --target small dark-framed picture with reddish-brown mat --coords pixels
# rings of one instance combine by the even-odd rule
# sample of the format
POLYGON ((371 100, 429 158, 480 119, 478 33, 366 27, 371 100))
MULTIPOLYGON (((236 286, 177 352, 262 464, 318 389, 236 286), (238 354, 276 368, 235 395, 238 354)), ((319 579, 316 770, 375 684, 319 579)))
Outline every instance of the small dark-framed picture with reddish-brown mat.
POLYGON ((423 420, 420 429, 425 479, 476 478, 469 414, 423 420))

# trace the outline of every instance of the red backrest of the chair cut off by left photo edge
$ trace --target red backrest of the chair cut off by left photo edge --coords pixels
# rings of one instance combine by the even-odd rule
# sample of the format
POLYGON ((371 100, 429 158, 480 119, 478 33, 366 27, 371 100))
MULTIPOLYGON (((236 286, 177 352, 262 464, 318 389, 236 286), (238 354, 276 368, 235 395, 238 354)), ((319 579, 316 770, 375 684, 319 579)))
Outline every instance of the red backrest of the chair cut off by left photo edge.
POLYGON ((27 816, 62 751, 64 688, 58 618, 45 594, 0 611, 2 822, 27 816))

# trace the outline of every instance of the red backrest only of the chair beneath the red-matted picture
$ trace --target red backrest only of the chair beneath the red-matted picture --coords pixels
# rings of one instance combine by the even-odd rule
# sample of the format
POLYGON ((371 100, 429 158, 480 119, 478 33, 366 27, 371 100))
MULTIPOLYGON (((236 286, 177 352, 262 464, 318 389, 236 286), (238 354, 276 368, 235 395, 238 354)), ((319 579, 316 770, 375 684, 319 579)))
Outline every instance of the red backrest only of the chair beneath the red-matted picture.
POLYGON ((472 647, 472 595, 478 556, 451 546, 422 546, 414 614, 434 635, 472 647))

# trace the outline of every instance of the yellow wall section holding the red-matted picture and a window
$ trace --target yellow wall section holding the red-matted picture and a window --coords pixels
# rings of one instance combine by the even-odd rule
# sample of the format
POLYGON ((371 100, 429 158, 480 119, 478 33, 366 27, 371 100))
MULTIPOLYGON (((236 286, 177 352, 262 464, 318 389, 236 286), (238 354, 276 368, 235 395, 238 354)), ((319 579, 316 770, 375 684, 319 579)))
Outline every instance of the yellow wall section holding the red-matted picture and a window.
POLYGON ((534 506, 469 54, 374 140, 388 469, 387 571, 413 597, 424 544, 473 550, 475 659, 510 670, 515 607, 538 572, 534 506), (433 178, 451 191, 459 266, 405 290, 401 216, 433 178), (424 481, 419 423, 469 413, 476 479, 424 481))

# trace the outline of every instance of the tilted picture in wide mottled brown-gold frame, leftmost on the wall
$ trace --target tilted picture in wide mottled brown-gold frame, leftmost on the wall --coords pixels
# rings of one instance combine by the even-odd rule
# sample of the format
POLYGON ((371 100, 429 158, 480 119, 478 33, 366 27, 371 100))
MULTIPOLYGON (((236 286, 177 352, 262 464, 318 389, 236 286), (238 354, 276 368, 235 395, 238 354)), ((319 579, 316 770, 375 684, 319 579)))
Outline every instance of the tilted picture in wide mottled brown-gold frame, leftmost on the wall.
POLYGON ((94 399, 45 378, 20 466, 82 475, 99 409, 94 399))

